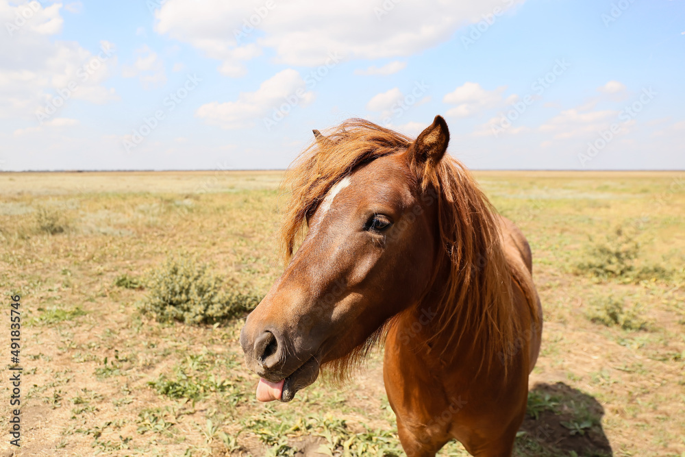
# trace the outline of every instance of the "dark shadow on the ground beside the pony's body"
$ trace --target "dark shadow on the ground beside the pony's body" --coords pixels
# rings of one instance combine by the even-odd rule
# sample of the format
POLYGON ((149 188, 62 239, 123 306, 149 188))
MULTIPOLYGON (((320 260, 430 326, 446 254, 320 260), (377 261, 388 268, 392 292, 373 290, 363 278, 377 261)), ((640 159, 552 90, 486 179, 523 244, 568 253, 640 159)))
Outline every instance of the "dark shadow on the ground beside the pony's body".
POLYGON ((604 408, 563 382, 536 384, 516 439, 516 456, 613 456, 601 426, 604 408))

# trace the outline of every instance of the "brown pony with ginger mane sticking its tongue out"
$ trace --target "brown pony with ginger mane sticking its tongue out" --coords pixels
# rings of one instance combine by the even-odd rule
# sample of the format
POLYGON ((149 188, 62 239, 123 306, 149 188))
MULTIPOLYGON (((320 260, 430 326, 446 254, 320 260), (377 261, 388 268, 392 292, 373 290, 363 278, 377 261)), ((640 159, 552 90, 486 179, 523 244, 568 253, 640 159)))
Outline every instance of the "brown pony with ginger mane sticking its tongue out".
POLYGON ((345 380, 384 340, 408 456, 510 456, 542 332, 523 234, 445 154, 440 116, 416 140, 361 119, 314 135, 286 178, 285 271, 240 332, 258 399, 345 380))

